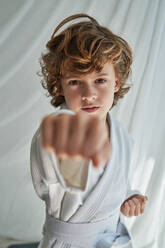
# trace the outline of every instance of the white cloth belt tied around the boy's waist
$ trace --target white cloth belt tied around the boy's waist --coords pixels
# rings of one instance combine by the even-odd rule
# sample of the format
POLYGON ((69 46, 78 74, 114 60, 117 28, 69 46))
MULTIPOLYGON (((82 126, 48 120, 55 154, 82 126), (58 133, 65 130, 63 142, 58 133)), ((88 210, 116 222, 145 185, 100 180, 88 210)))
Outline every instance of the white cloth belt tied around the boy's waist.
POLYGON ((47 214, 44 230, 49 235, 57 238, 59 241, 81 247, 91 247, 98 237, 104 235, 113 242, 116 239, 114 229, 116 215, 112 215, 97 222, 65 222, 47 214))

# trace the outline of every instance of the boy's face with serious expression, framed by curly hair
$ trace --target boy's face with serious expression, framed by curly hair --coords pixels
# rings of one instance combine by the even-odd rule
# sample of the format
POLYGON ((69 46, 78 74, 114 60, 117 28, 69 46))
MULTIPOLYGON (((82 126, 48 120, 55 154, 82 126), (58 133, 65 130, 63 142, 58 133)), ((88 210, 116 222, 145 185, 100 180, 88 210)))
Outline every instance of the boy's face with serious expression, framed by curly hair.
POLYGON ((107 112, 111 109, 114 93, 120 84, 115 77, 114 67, 107 62, 100 72, 93 71, 86 75, 67 73, 62 79, 62 92, 68 108, 74 112, 87 112, 106 120, 107 112), (85 107, 98 107, 83 109, 85 107))

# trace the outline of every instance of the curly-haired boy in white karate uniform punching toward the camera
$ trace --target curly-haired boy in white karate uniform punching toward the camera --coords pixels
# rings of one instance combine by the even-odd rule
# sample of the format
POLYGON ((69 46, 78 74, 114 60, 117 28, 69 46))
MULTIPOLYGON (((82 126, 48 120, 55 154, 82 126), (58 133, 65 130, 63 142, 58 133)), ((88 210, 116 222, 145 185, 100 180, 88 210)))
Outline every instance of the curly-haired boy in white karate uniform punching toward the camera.
POLYGON ((129 188, 132 139, 110 113, 130 88, 131 49, 85 14, 64 19, 47 48, 43 87, 60 110, 43 119, 31 145, 34 188, 46 204, 39 247, 132 247, 121 213, 142 214, 147 197, 129 188), (81 17, 90 21, 55 36, 81 17))

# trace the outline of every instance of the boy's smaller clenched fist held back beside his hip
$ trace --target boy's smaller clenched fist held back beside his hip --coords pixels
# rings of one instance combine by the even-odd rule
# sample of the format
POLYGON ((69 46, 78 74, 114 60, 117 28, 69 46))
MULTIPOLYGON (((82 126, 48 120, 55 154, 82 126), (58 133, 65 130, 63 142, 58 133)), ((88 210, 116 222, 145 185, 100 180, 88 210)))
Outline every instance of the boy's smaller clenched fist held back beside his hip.
POLYGON ((125 216, 138 216, 144 213, 147 196, 133 195, 123 202, 120 211, 125 216))

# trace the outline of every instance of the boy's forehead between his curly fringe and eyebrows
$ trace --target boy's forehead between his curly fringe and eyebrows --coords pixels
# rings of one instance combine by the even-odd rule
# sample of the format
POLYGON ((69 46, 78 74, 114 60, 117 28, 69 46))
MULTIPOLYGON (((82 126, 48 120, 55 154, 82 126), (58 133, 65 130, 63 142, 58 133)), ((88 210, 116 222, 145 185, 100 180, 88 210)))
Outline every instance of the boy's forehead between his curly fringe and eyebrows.
POLYGON ((103 68, 98 72, 96 70, 86 73, 86 74, 79 74, 79 73, 70 73, 66 72, 64 74, 64 79, 69 79, 72 77, 84 77, 84 76, 91 76, 91 77, 96 77, 96 76, 115 76, 115 71, 113 64, 111 62, 107 62, 103 65, 103 68))

